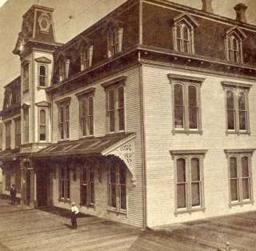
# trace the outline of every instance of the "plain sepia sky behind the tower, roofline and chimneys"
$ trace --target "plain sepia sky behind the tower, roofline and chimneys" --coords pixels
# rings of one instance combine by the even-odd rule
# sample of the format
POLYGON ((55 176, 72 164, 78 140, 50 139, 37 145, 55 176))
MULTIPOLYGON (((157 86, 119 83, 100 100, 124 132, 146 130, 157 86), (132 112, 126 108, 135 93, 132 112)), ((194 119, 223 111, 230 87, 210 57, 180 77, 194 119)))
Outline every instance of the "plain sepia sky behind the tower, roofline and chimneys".
MULTIPOLYGON (((21 31, 22 14, 33 4, 54 8, 54 26, 57 42, 67 42, 87 27, 97 22, 126 0, 0 0, 0 110, 2 110, 3 86, 18 77, 20 62, 12 54, 21 31), (70 18, 72 16, 72 18, 70 18)), ((172 0, 197 9, 202 0, 172 0)), ((235 18, 234 6, 242 2, 248 6, 249 23, 256 25, 255 0, 213 0, 215 14, 235 18)))

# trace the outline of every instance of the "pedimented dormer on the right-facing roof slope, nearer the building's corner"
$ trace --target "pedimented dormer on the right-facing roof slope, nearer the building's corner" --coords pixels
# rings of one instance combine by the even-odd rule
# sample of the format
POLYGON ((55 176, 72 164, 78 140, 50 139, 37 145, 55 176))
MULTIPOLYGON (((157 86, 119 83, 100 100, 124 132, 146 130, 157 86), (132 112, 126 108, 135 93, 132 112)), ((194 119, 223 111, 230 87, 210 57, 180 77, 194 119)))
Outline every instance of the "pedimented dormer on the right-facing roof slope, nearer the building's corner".
POLYGON ((174 18, 174 50, 194 54, 194 27, 198 22, 189 14, 174 18))

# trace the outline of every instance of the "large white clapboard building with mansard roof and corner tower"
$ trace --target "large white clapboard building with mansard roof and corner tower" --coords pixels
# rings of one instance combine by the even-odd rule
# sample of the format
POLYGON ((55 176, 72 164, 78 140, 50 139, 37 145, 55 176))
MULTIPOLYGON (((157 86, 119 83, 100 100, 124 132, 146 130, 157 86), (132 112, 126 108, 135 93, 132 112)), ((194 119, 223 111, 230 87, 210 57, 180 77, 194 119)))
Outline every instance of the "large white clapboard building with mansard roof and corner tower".
POLYGON ((236 20, 202 4, 130 0, 64 45, 32 6, 1 112, 4 192, 144 227, 256 209, 256 26, 243 4, 236 20))

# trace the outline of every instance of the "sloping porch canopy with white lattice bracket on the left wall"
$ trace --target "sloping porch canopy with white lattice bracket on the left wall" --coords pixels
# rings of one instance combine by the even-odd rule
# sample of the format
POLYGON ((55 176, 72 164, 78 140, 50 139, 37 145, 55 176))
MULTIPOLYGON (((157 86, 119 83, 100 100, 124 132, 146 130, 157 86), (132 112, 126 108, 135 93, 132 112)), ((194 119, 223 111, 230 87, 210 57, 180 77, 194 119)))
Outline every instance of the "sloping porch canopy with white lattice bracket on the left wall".
POLYGON ((33 153, 32 157, 42 159, 114 155, 126 163, 132 175, 132 181, 135 182, 134 137, 135 133, 117 133, 104 137, 86 137, 77 141, 61 141, 33 153))

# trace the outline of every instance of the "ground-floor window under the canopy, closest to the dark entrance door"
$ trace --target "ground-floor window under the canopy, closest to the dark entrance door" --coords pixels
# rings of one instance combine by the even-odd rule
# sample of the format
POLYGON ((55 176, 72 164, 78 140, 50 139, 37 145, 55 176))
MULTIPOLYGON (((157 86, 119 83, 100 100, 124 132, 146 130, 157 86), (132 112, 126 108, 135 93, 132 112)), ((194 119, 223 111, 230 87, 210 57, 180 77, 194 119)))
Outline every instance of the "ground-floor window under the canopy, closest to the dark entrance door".
POLYGON ((70 168, 66 165, 59 169, 59 197, 62 201, 70 201, 70 168))

